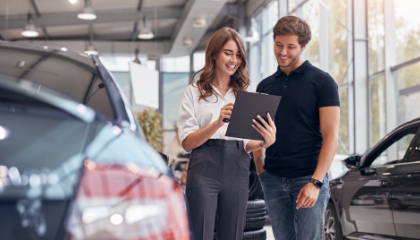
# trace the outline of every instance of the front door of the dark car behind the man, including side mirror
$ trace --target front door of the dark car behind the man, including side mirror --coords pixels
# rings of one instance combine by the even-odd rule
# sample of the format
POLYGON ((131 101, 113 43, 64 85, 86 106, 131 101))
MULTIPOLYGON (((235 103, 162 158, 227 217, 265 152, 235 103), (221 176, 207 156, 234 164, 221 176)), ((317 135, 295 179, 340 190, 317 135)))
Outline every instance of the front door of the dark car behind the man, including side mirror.
POLYGON ((343 178, 343 208, 348 208, 344 209, 344 228, 348 237, 397 236, 388 201, 415 133, 412 128, 395 131, 363 157, 357 171, 343 178))

